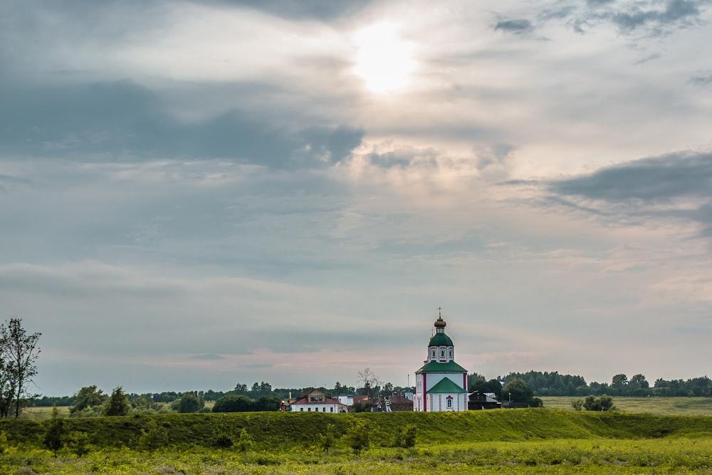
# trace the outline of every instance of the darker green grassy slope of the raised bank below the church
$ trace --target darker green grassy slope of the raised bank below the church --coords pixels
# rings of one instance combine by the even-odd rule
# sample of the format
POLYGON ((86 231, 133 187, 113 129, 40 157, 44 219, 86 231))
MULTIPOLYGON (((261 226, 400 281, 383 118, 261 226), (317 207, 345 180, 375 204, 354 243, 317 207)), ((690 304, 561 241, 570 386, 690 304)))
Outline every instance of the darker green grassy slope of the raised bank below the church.
MULTIPOLYGON (((169 443, 210 446, 215 434, 236 439, 245 428, 260 449, 286 450, 318 442, 327 424, 345 433, 364 422, 376 444, 389 445, 407 424, 419 428, 419 446, 458 442, 525 441, 537 439, 650 439, 658 437, 710 437, 712 417, 656 416, 608 412, 572 412, 553 409, 513 409, 460 413, 393 412, 363 414, 284 414, 251 412, 232 414, 166 414, 160 416, 66 419, 69 430, 90 434, 98 447, 135 447, 141 429, 151 420, 164 427, 169 443)), ((9 419, 0 431, 11 442, 39 442, 47 421, 9 419)))

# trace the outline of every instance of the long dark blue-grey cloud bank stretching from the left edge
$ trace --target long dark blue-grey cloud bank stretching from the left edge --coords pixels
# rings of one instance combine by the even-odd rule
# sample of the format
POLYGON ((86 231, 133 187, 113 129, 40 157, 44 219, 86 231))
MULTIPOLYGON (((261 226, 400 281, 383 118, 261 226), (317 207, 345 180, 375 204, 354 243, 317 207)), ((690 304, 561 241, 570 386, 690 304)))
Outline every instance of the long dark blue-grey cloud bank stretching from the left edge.
POLYGON ((0 88, 8 98, 0 150, 23 155, 187 155, 295 169, 345 160, 365 133, 348 125, 286 130, 239 109, 182 121, 130 81, 0 88))

